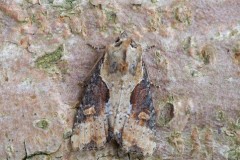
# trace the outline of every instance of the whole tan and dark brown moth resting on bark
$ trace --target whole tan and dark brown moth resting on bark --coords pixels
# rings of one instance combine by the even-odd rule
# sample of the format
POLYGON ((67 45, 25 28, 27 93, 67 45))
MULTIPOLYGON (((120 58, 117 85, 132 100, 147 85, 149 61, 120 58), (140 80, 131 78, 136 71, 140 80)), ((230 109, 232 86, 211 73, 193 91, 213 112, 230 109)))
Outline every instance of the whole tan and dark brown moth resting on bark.
POLYGON ((155 110, 142 54, 126 32, 106 46, 77 110, 73 150, 101 149, 116 141, 126 153, 153 154, 155 110))

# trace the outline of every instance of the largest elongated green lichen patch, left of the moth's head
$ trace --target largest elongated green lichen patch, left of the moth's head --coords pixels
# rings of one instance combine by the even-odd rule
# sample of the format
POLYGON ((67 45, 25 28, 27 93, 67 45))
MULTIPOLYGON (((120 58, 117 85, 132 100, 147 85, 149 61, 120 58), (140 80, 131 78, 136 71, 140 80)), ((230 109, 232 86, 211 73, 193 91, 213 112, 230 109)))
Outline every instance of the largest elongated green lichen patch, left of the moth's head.
POLYGON ((35 61, 35 65, 40 69, 48 69, 57 64, 63 56, 63 45, 60 45, 54 52, 47 53, 35 61))

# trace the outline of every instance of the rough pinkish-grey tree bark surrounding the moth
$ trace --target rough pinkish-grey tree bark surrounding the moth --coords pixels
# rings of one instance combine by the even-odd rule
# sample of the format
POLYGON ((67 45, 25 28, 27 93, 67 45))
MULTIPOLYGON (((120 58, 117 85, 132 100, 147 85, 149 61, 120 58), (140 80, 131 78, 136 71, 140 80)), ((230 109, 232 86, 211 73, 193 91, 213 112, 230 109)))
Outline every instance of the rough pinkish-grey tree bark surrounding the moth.
POLYGON ((157 110, 145 159, 240 159, 239 0, 0 0, 0 159, 137 159, 72 152, 76 107, 123 30, 143 46, 157 110))

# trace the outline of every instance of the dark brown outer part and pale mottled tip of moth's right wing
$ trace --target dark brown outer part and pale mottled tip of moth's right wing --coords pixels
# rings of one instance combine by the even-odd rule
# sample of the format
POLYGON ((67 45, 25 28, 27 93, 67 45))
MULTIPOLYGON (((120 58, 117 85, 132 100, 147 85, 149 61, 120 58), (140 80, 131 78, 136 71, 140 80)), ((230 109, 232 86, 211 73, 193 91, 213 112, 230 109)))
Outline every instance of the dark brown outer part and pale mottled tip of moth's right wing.
POLYGON ((155 112, 145 66, 143 79, 131 95, 132 111, 122 132, 122 147, 127 152, 151 155, 155 148, 155 112))

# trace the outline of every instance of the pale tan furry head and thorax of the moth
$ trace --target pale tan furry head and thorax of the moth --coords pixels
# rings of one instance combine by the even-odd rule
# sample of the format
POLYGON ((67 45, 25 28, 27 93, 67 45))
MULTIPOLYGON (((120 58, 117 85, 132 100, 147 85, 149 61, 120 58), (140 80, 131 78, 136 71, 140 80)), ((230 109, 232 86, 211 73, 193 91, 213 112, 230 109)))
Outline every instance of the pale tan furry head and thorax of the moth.
POLYGON ((107 52, 109 73, 136 74, 141 65, 142 48, 126 32, 123 32, 107 52))

